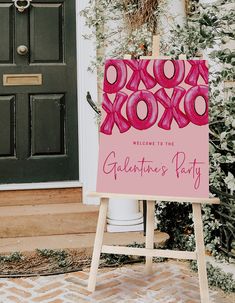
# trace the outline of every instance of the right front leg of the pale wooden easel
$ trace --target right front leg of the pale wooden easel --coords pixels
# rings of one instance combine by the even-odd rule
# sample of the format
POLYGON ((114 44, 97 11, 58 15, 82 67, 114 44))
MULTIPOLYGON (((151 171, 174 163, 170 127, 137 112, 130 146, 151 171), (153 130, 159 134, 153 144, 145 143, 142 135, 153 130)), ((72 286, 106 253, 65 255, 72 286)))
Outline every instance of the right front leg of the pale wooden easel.
POLYGON ((201 204, 193 203, 193 220, 194 220, 194 233, 196 240, 196 253, 198 264, 198 276, 201 303, 209 303, 209 289, 206 272, 206 258, 205 258, 205 245, 203 236, 203 223, 201 214, 201 204))

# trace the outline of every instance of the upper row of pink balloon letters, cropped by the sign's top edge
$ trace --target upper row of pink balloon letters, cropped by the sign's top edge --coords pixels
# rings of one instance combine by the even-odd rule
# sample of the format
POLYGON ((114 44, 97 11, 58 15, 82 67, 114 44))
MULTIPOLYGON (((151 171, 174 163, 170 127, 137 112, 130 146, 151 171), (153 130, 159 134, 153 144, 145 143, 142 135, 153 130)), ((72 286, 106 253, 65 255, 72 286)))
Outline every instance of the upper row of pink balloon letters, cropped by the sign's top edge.
POLYGON ((205 60, 188 60, 190 70, 185 77, 185 63, 183 60, 154 60, 151 70, 149 63, 151 60, 107 60, 105 64, 104 91, 112 94, 120 91, 122 88, 131 91, 137 91, 142 82, 146 89, 153 88, 156 84, 165 88, 174 88, 185 78, 185 83, 191 86, 198 84, 201 76, 205 84, 208 84, 208 68, 205 60), (165 65, 170 61, 173 65, 173 74, 169 78, 165 73, 165 65), (130 68, 131 76, 127 81, 128 70, 130 68), (113 67, 116 73, 116 79, 110 81, 109 69, 113 67), (150 73, 151 72, 151 73, 150 73))

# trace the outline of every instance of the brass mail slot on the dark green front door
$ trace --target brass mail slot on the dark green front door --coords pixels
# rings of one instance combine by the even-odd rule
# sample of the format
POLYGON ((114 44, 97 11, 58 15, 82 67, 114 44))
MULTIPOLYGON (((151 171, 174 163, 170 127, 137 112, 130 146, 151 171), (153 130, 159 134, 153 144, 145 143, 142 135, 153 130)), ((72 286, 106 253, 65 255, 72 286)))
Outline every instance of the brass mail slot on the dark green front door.
POLYGON ((3 75, 3 85, 42 85, 42 74, 5 74, 3 75))

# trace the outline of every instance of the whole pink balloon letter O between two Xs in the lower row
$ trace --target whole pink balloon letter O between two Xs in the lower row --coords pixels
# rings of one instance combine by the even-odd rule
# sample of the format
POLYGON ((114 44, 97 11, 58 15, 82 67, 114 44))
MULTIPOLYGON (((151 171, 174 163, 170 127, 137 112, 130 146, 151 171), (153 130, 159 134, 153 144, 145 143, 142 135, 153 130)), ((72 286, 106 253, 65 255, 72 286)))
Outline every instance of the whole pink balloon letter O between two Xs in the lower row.
POLYGON ((156 121, 158 116, 158 105, 154 95, 145 90, 133 93, 127 101, 127 118, 132 126, 136 129, 150 128, 156 121), (145 102, 147 106, 147 115, 144 119, 140 119, 137 113, 137 106, 140 101, 145 102))

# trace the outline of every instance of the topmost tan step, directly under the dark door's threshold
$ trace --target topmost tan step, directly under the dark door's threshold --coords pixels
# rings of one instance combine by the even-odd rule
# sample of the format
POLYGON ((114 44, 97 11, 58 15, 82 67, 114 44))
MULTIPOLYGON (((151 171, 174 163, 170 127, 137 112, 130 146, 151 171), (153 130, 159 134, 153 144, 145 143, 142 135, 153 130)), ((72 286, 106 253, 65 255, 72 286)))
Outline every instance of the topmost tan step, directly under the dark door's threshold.
POLYGON ((0 206, 82 202, 82 188, 1 190, 0 206))

